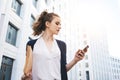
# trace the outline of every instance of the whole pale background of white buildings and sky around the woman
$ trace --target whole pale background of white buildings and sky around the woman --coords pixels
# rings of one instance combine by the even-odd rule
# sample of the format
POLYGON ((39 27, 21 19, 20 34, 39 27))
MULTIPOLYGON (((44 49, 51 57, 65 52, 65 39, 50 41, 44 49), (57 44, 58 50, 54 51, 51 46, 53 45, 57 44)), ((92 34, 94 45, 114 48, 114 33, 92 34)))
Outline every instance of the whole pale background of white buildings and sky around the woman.
POLYGON ((67 44, 67 61, 89 45, 69 80, 120 80, 120 0, 0 0, 0 80, 21 80, 32 24, 47 9, 60 15, 57 39, 67 44))

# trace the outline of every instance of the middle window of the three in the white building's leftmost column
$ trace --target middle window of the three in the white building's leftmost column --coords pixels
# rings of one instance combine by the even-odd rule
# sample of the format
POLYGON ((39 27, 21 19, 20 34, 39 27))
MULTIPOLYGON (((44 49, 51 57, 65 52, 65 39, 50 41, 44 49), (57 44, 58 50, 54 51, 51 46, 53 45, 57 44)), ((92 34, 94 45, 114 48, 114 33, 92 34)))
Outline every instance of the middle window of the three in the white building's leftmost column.
POLYGON ((17 32, 18 29, 15 26, 13 26, 11 23, 9 23, 7 29, 7 35, 6 35, 6 42, 15 46, 17 39, 17 32))

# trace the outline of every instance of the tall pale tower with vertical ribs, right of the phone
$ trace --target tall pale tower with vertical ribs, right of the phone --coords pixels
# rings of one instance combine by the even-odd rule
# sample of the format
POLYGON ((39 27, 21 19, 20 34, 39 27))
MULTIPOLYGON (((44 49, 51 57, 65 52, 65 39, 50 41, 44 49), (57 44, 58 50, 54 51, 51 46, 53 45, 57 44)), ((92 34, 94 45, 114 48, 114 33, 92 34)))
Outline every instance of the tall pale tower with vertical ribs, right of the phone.
POLYGON ((106 30, 90 38, 90 80, 112 80, 106 30))

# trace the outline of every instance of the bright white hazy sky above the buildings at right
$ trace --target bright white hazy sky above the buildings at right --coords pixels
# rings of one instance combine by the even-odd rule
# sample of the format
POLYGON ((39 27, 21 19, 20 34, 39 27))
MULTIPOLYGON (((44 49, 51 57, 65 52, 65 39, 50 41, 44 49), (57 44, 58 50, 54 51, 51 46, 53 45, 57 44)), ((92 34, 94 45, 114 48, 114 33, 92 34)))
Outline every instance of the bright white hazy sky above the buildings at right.
POLYGON ((120 58, 120 0, 77 0, 76 4, 71 4, 74 19, 79 16, 80 26, 91 32, 106 29, 110 55, 120 58))

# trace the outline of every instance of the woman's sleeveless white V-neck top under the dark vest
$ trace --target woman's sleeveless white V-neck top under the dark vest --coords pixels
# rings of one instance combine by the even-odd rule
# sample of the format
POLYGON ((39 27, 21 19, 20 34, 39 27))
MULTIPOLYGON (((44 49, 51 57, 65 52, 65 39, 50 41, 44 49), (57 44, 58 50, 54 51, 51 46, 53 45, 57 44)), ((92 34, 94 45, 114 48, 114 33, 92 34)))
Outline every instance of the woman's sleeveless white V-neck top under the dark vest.
POLYGON ((60 73, 60 49, 54 39, 51 50, 49 50, 40 37, 33 49, 33 80, 61 80, 60 73))

